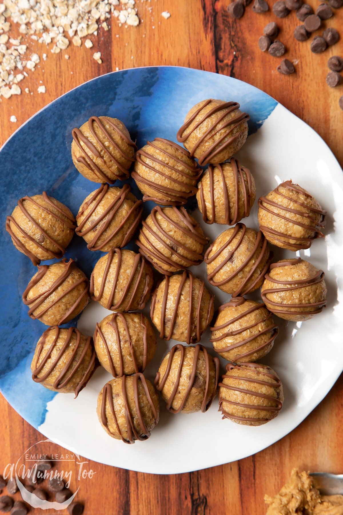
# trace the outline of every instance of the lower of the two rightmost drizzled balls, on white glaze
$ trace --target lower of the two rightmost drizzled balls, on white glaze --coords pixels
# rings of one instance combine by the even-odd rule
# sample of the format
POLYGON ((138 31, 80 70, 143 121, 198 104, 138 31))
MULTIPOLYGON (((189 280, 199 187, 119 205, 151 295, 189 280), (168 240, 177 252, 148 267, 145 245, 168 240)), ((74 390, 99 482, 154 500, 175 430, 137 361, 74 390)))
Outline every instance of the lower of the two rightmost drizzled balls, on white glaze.
POLYGON ((268 310, 280 318, 300 322, 326 305, 324 272, 301 258, 272 263, 261 288, 268 310))

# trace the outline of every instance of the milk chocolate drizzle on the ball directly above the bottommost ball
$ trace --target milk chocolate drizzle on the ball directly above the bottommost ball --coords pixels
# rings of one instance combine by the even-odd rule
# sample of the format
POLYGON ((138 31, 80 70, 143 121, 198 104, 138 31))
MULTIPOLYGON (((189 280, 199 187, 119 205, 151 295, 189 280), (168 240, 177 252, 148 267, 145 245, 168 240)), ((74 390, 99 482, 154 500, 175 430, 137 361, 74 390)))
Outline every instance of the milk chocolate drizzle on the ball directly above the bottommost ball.
POLYGON ((118 349, 118 359, 119 359, 119 373, 116 373, 116 363, 113 362, 113 358, 111 356, 111 351, 109 349, 109 346, 107 344, 106 338, 101 331, 100 325, 97 323, 94 333, 94 341, 96 341, 97 334, 99 334, 100 338, 102 339, 103 345, 106 349, 107 358, 109 360, 110 364, 110 370, 113 377, 121 377, 124 374, 124 360, 123 360, 123 354, 122 354, 122 348, 121 348, 121 338, 120 338, 120 332, 119 332, 119 326, 118 326, 118 318, 120 318, 121 323, 124 326, 124 331, 128 340, 128 346, 130 349, 131 357, 132 357, 132 364, 135 368, 135 372, 143 372, 147 366, 147 359, 148 359, 148 337, 147 337, 147 325, 145 324, 144 317, 142 314, 140 314, 140 325, 143 328, 143 363, 141 367, 138 366, 137 359, 135 356, 135 350, 133 348, 132 340, 131 340, 131 334, 129 331, 129 327, 127 324, 127 321, 122 313, 113 313, 112 318, 108 323, 112 329, 114 330, 116 334, 116 343, 117 343, 117 349, 118 349))

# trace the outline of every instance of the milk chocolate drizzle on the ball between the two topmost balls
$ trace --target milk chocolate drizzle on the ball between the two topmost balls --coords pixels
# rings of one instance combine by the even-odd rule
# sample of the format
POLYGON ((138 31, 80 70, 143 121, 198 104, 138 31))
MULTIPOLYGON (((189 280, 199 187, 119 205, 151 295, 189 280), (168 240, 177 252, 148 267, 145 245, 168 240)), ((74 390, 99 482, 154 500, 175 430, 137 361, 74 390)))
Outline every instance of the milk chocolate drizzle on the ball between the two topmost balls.
POLYGON ((153 173, 160 175, 162 177, 163 182, 165 183, 164 185, 158 184, 152 180, 149 180, 149 179, 146 179, 145 177, 140 176, 136 171, 133 171, 131 176, 134 178, 134 180, 136 182, 141 182, 143 184, 146 184, 147 186, 149 186, 149 188, 151 188, 152 190, 157 192, 157 194, 159 195, 159 196, 153 197, 148 194, 144 194, 143 200, 144 201, 153 200, 154 202, 156 202, 158 204, 165 204, 165 205, 183 205, 183 204, 185 204, 189 197, 191 197, 192 195, 195 195, 196 190, 197 190, 196 182, 197 182, 198 178, 201 176, 201 174, 203 173, 203 170, 201 168, 198 168, 196 166, 195 162, 193 162, 193 164, 187 163, 187 160, 191 159, 189 152, 187 150, 185 150, 184 148, 180 147, 179 145, 177 145, 177 143, 174 143, 169 140, 165 140, 164 138, 155 138, 153 142, 148 141, 147 145, 149 145, 153 149, 157 150, 158 152, 163 153, 167 159, 165 162, 165 161, 158 159, 156 156, 153 156, 152 153, 146 152, 142 148, 140 150, 137 150, 136 160, 138 161, 138 163, 145 166, 149 170, 153 171, 153 173), (173 156, 167 150, 158 147, 158 145, 155 145, 154 143, 156 141, 165 143, 166 145, 169 145, 172 148, 175 148, 179 152, 182 152, 185 155, 185 161, 183 159, 178 158, 177 156, 173 156), (149 160, 155 162, 156 164, 163 166, 163 170, 158 170, 154 166, 148 164, 146 161, 144 161, 142 159, 142 157, 149 159, 149 160), (171 165, 170 164, 171 160, 179 163, 180 167, 177 168, 176 166, 171 165), (175 177, 173 177, 173 175, 170 174, 169 170, 171 170, 171 172, 173 174, 178 174, 178 175, 184 177, 186 180, 191 180, 193 185, 187 184, 185 181, 176 179, 175 177), (167 181, 170 181, 171 183, 173 183, 173 185, 175 185, 174 186, 175 189, 173 187, 168 186, 167 181), (178 186, 180 186, 181 189, 178 188, 178 186), (187 188, 187 191, 182 191, 182 188, 187 188), (164 195, 164 196, 168 197, 168 200, 161 199, 160 195, 164 195))

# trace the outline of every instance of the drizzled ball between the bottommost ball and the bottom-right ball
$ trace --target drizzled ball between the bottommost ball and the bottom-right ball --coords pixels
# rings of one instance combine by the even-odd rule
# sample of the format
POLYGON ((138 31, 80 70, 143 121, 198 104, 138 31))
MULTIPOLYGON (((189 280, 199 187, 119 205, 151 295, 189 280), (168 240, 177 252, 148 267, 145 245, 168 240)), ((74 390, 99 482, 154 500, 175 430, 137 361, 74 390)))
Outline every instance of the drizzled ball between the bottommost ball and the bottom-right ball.
POLYGON ((177 344, 163 358, 155 377, 171 413, 207 411, 218 387, 219 359, 205 347, 177 344))

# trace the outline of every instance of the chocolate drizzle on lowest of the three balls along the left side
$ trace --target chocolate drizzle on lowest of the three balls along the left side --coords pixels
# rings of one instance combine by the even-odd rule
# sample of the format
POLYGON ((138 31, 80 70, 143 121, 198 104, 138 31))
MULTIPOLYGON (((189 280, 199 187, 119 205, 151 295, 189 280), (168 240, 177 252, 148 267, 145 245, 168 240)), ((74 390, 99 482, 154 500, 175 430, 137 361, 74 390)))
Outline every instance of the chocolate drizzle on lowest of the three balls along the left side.
POLYGON ((61 329, 57 325, 53 325, 52 327, 49 327, 46 331, 44 331, 44 333, 42 334, 42 336, 37 344, 38 353, 37 353, 37 359, 35 362, 34 370, 32 372, 32 379, 35 383, 42 383, 49 377, 49 375, 53 372, 55 367, 58 366, 60 359, 62 359, 62 357, 63 357, 64 351, 70 345, 71 337, 75 333, 75 335, 76 335, 75 348, 74 348, 73 352, 70 354, 70 357, 69 357, 67 363, 62 368, 59 375, 56 377, 56 380, 53 382, 53 388, 55 388, 55 390, 64 388, 64 386, 66 386, 69 383, 69 381, 71 381, 71 379, 73 379, 73 376, 76 374, 79 367, 82 365, 83 359, 84 359, 89 347, 91 347, 91 349, 92 349, 91 360, 89 361, 87 369, 86 369, 85 373, 83 374, 83 376, 81 377, 79 384, 76 386, 76 388, 74 390, 75 399, 76 399, 80 390, 82 390, 82 388, 84 388, 86 386, 86 384, 88 383, 89 379, 91 379, 93 372, 95 371, 95 368, 96 368, 96 367, 94 367, 94 365, 95 365, 95 350, 92 345, 93 340, 92 340, 91 336, 88 336, 88 338, 86 339, 86 343, 85 343, 84 349, 81 353, 81 356, 79 357, 78 362, 75 365, 73 365, 75 356, 81 345, 81 333, 75 327, 68 328, 68 332, 67 332, 67 336, 65 338, 64 344, 62 345, 61 350, 59 351, 55 361, 51 364, 51 366, 49 367, 47 372, 45 372, 41 377, 38 377, 38 375, 41 373, 41 371, 45 367, 45 364, 47 363, 48 359, 51 356, 53 349, 55 348, 55 346, 57 344, 57 341, 60 336, 60 332, 61 332, 61 329), (39 359, 42 354, 42 351, 44 349, 47 335, 50 331, 53 331, 53 330, 56 330, 55 338, 53 339, 52 344, 50 345, 48 351, 46 352, 45 356, 43 357, 41 363, 38 364, 39 359), (69 370, 69 368, 70 368, 70 370, 69 370), (69 371, 69 373, 68 373, 68 371, 69 371), (89 372, 92 372, 92 373, 89 374, 89 372), (88 376, 88 374, 89 374, 89 376, 88 376))

